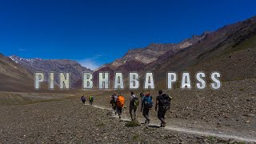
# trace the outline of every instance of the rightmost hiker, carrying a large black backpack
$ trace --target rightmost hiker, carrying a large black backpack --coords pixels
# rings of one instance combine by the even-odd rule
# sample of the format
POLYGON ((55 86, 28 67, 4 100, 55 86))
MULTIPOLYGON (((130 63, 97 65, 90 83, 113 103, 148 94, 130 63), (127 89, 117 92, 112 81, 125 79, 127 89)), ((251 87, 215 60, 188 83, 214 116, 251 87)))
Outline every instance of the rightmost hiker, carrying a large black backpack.
POLYGON ((158 91, 158 97, 155 104, 155 111, 158 110, 158 118, 161 121, 161 127, 166 126, 165 116, 166 111, 170 110, 171 97, 168 94, 162 94, 162 90, 158 91))

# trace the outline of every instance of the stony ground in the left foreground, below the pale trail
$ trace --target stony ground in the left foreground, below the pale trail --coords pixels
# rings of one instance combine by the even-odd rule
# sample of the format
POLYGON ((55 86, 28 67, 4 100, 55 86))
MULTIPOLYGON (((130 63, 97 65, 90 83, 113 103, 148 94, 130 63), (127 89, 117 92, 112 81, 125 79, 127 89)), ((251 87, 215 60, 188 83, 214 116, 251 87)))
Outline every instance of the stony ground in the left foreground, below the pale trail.
POLYGON ((78 99, 0 106, 1 143, 228 143, 173 130, 126 127, 110 110, 82 105, 78 99))

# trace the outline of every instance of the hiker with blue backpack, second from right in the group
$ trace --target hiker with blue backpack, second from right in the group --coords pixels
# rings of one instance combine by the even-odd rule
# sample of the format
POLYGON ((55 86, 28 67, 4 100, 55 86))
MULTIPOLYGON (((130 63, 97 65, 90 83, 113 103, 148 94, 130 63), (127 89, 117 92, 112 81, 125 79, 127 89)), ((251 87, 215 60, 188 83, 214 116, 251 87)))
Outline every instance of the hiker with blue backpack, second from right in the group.
POLYGON ((146 97, 142 100, 142 109, 143 110, 143 116, 146 118, 145 124, 150 124, 150 110, 153 107, 153 101, 152 96, 150 94, 146 94, 146 97))

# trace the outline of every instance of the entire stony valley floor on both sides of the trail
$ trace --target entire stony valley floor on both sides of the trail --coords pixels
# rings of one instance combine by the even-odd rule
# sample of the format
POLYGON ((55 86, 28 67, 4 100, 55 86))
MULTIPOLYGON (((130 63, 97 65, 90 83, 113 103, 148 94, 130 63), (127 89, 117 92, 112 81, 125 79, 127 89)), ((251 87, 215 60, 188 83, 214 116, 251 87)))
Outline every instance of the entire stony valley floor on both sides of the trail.
MULTIPOLYGON (((150 111, 151 126, 126 127, 113 118, 113 91, 74 94, 0 94, 0 143, 237 143, 256 142, 256 79, 224 81, 220 90, 165 91, 173 97, 166 129, 150 111), (95 94, 94 106, 80 97, 95 94), (39 101, 39 102, 37 102, 39 101), (13 104, 13 105, 12 105, 13 104)), ((126 96, 129 92, 118 91, 126 96)), ((141 91, 134 91, 139 94, 141 91)), ((154 97, 157 90, 150 92, 154 97)), ((139 112, 138 120, 144 122, 139 112)), ((123 118, 130 119, 128 110, 123 118)))

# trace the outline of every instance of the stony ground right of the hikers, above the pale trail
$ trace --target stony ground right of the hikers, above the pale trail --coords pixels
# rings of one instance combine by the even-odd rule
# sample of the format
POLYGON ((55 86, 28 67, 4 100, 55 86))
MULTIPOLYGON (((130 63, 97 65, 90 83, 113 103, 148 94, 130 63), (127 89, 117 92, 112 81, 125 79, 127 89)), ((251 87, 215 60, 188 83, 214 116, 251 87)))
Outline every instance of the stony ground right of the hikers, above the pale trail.
MULTIPOLYGON (((256 79, 223 81, 220 90, 165 91, 173 97, 171 110, 166 119, 170 126, 185 127, 217 134, 231 134, 242 138, 256 138, 256 79)), ((141 91, 135 91, 139 94, 141 91)), ((155 98, 157 90, 150 92, 155 98)), ((128 99, 128 92, 123 92, 128 99)), ((97 97, 96 97, 97 98, 97 97)), ((110 107, 109 97, 98 96, 100 106, 110 107)), ((126 102, 126 106, 129 103, 126 102)), ((158 122, 154 110, 151 118, 158 122)), ((141 116, 141 113, 138 114, 141 116)))

